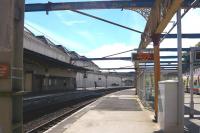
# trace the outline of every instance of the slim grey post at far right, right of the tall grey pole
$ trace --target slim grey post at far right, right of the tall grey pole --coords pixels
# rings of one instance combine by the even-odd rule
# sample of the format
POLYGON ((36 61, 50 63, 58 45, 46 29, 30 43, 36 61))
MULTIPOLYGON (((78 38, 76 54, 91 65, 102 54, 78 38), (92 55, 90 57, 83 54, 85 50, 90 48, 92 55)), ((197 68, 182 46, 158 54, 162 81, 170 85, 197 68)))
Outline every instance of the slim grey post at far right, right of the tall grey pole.
POLYGON ((193 50, 190 51, 190 118, 194 117, 194 100, 193 100, 193 50))

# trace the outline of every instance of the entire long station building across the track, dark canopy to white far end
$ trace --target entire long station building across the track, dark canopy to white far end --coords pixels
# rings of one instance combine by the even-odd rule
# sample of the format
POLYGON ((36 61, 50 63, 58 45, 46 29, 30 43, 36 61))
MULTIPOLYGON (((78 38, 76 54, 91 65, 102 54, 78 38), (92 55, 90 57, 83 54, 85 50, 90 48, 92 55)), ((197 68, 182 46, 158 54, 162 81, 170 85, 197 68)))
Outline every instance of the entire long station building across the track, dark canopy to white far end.
MULTIPOLYGON (((62 45, 55 45, 45 36, 24 31, 24 88, 27 92, 65 91, 76 88, 124 86, 117 73, 103 73, 92 61, 62 45), (96 84, 96 85, 95 85, 96 84)), ((133 79, 132 79, 133 81, 133 79)))

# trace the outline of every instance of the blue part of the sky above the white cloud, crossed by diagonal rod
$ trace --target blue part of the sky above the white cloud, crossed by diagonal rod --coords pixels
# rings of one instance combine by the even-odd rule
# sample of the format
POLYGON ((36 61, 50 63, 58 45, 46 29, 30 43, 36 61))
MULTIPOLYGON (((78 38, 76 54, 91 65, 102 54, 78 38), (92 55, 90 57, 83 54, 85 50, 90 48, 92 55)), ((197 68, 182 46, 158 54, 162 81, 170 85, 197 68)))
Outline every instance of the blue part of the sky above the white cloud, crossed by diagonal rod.
MULTIPOLYGON (((59 1, 61 0, 51 0, 51 2, 59 1)), ((26 1, 26 3, 33 2, 41 3, 47 2, 47 0, 26 1)), ((140 31, 144 30, 146 23, 139 14, 128 10, 85 10, 84 12, 140 31)), ((140 34, 138 33, 71 11, 49 12, 49 15, 46 15, 45 12, 26 13, 25 26, 36 35, 45 34, 57 44, 62 44, 81 54, 87 54, 104 45, 123 44, 128 48, 131 46, 134 48, 140 42, 140 34)))

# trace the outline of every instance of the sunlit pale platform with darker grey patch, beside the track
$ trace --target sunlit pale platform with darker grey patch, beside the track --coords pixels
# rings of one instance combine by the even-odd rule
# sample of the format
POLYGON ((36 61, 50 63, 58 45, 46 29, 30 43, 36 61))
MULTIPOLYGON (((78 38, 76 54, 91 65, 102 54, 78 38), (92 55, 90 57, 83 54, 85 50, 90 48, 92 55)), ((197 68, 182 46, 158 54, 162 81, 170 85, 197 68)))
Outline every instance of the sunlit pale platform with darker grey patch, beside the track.
POLYGON ((127 89, 106 95, 45 133, 153 133, 158 125, 135 94, 127 89))

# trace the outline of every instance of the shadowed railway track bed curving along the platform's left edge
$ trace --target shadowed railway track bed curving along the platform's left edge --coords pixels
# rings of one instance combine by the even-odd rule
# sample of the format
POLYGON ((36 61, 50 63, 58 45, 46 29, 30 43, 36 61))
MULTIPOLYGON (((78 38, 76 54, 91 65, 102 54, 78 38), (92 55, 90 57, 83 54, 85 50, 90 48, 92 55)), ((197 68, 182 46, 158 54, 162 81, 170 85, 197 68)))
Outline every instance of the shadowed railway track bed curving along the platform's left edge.
POLYGON ((58 122, 62 121, 63 119, 67 118, 72 113, 76 112, 77 110, 83 108, 84 106, 90 104, 91 102, 95 101, 97 98, 102 97, 106 94, 113 93, 119 91, 120 89, 109 89, 109 90, 98 90, 95 93, 91 93, 90 95, 86 95, 85 97, 77 97, 76 95, 71 96, 71 99, 64 100, 61 102, 59 98, 66 99, 69 96, 53 96, 52 98, 48 98, 45 100, 46 97, 40 98, 42 101, 41 105, 35 104, 39 103, 39 100, 30 99, 29 101, 34 104, 30 104, 32 106, 26 106, 26 110, 24 110, 24 132, 25 133, 41 133, 48 130, 50 127, 56 125, 58 122), (52 100, 54 99, 54 100, 52 100), (34 100, 34 101, 31 101, 34 100), (49 101, 51 103, 48 103, 49 101), (36 102, 35 102, 36 101, 36 102), (59 101, 59 102, 58 102, 59 101), (54 103, 55 102, 55 103, 54 103), (46 104, 49 104, 46 106, 46 104), (38 106, 40 108, 38 108, 38 106), (43 106, 45 105, 45 106, 43 106), (32 110, 27 111, 27 107, 31 107, 32 110), (36 107, 36 109, 34 109, 36 107))

